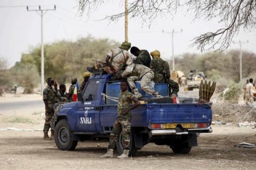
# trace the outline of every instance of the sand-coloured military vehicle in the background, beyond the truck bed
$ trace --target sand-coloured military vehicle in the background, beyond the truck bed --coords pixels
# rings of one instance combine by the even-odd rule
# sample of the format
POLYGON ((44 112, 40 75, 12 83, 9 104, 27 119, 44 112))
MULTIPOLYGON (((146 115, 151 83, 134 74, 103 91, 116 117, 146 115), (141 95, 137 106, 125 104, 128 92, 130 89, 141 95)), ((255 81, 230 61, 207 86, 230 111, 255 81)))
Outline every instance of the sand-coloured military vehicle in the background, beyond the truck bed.
POLYGON ((203 72, 196 72, 195 69, 190 70, 190 73, 187 77, 187 84, 184 90, 190 91, 195 88, 199 89, 202 80, 205 80, 203 72))

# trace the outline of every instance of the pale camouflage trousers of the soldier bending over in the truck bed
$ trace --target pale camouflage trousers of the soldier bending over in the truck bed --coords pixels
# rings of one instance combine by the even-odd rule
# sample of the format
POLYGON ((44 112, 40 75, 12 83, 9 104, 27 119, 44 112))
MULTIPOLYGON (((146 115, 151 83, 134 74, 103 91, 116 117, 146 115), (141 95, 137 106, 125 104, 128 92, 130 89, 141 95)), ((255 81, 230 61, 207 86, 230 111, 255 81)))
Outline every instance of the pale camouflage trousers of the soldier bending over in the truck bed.
MULTIPOLYGON (((141 89, 150 95, 152 95, 155 92, 155 90, 150 86, 150 81, 154 78, 154 75, 155 73, 153 71, 149 71, 148 73, 143 75, 143 77, 141 78, 141 84, 140 84, 141 89)), ((127 78, 127 82, 131 89, 136 88, 136 85, 135 85, 136 80, 139 80, 138 76, 131 76, 127 78)))

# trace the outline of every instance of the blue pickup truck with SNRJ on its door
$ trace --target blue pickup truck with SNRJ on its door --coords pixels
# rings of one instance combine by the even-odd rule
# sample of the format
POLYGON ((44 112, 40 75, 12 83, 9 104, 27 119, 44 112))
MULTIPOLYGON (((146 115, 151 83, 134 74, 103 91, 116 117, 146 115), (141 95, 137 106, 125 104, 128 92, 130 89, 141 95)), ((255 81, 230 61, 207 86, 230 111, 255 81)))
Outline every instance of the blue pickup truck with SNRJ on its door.
MULTIPOLYGON (((117 117, 120 90, 119 82, 111 82, 110 78, 109 74, 93 75, 86 83, 81 101, 64 104, 59 110, 53 125, 59 149, 74 150, 78 141, 109 138, 117 117)), ((136 84, 140 90, 139 82, 136 84)), ((154 88, 162 96, 169 94, 165 83, 155 83, 154 88)), ((153 97, 141 93, 146 99, 153 97)), ((197 146, 199 133, 212 132, 211 104, 197 105, 192 98, 179 97, 178 104, 147 102, 131 113, 130 156, 149 142, 170 146, 177 154, 188 154, 191 147, 197 146)), ((122 133, 116 149, 122 154, 122 133)))

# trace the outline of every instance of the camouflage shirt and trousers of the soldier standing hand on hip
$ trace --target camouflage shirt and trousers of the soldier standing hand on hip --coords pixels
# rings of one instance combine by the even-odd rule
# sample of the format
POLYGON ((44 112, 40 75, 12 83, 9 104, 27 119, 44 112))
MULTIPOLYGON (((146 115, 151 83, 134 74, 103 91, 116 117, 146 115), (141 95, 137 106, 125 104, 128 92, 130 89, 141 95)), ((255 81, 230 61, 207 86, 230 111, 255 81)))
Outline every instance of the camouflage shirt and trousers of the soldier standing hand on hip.
POLYGON ((122 132, 124 139, 124 149, 129 149, 130 146, 130 135, 131 135, 131 112, 127 114, 124 113, 127 109, 129 109, 133 94, 129 91, 121 92, 118 99, 117 113, 118 116, 116 118, 113 129, 110 133, 109 138, 109 149, 115 149, 116 141, 118 140, 119 134, 122 132))

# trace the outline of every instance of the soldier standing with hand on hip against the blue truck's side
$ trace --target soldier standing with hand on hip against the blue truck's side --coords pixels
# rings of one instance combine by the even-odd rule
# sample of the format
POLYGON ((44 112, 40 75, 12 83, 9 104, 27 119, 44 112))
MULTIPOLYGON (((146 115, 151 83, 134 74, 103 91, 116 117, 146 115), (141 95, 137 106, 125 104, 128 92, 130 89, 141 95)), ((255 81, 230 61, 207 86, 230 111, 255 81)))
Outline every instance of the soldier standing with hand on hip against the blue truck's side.
POLYGON ((124 150, 121 156, 117 158, 126 158, 129 155, 129 146, 130 146, 130 135, 131 135, 131 110, 138 107, 140 102, 134 95, 128 91, 128 83, 122 81, 120 84, 121 93, 118 99, 117 113, 113 129, 109 137, 109 146, 107 154, 101 156, 102 158, 113 157, 113 151, 116 146, 116 141, 120 133, 122 132, 124 139, 124 150), (133 106, 130 106, 132 101, 134 102, 133 106))

